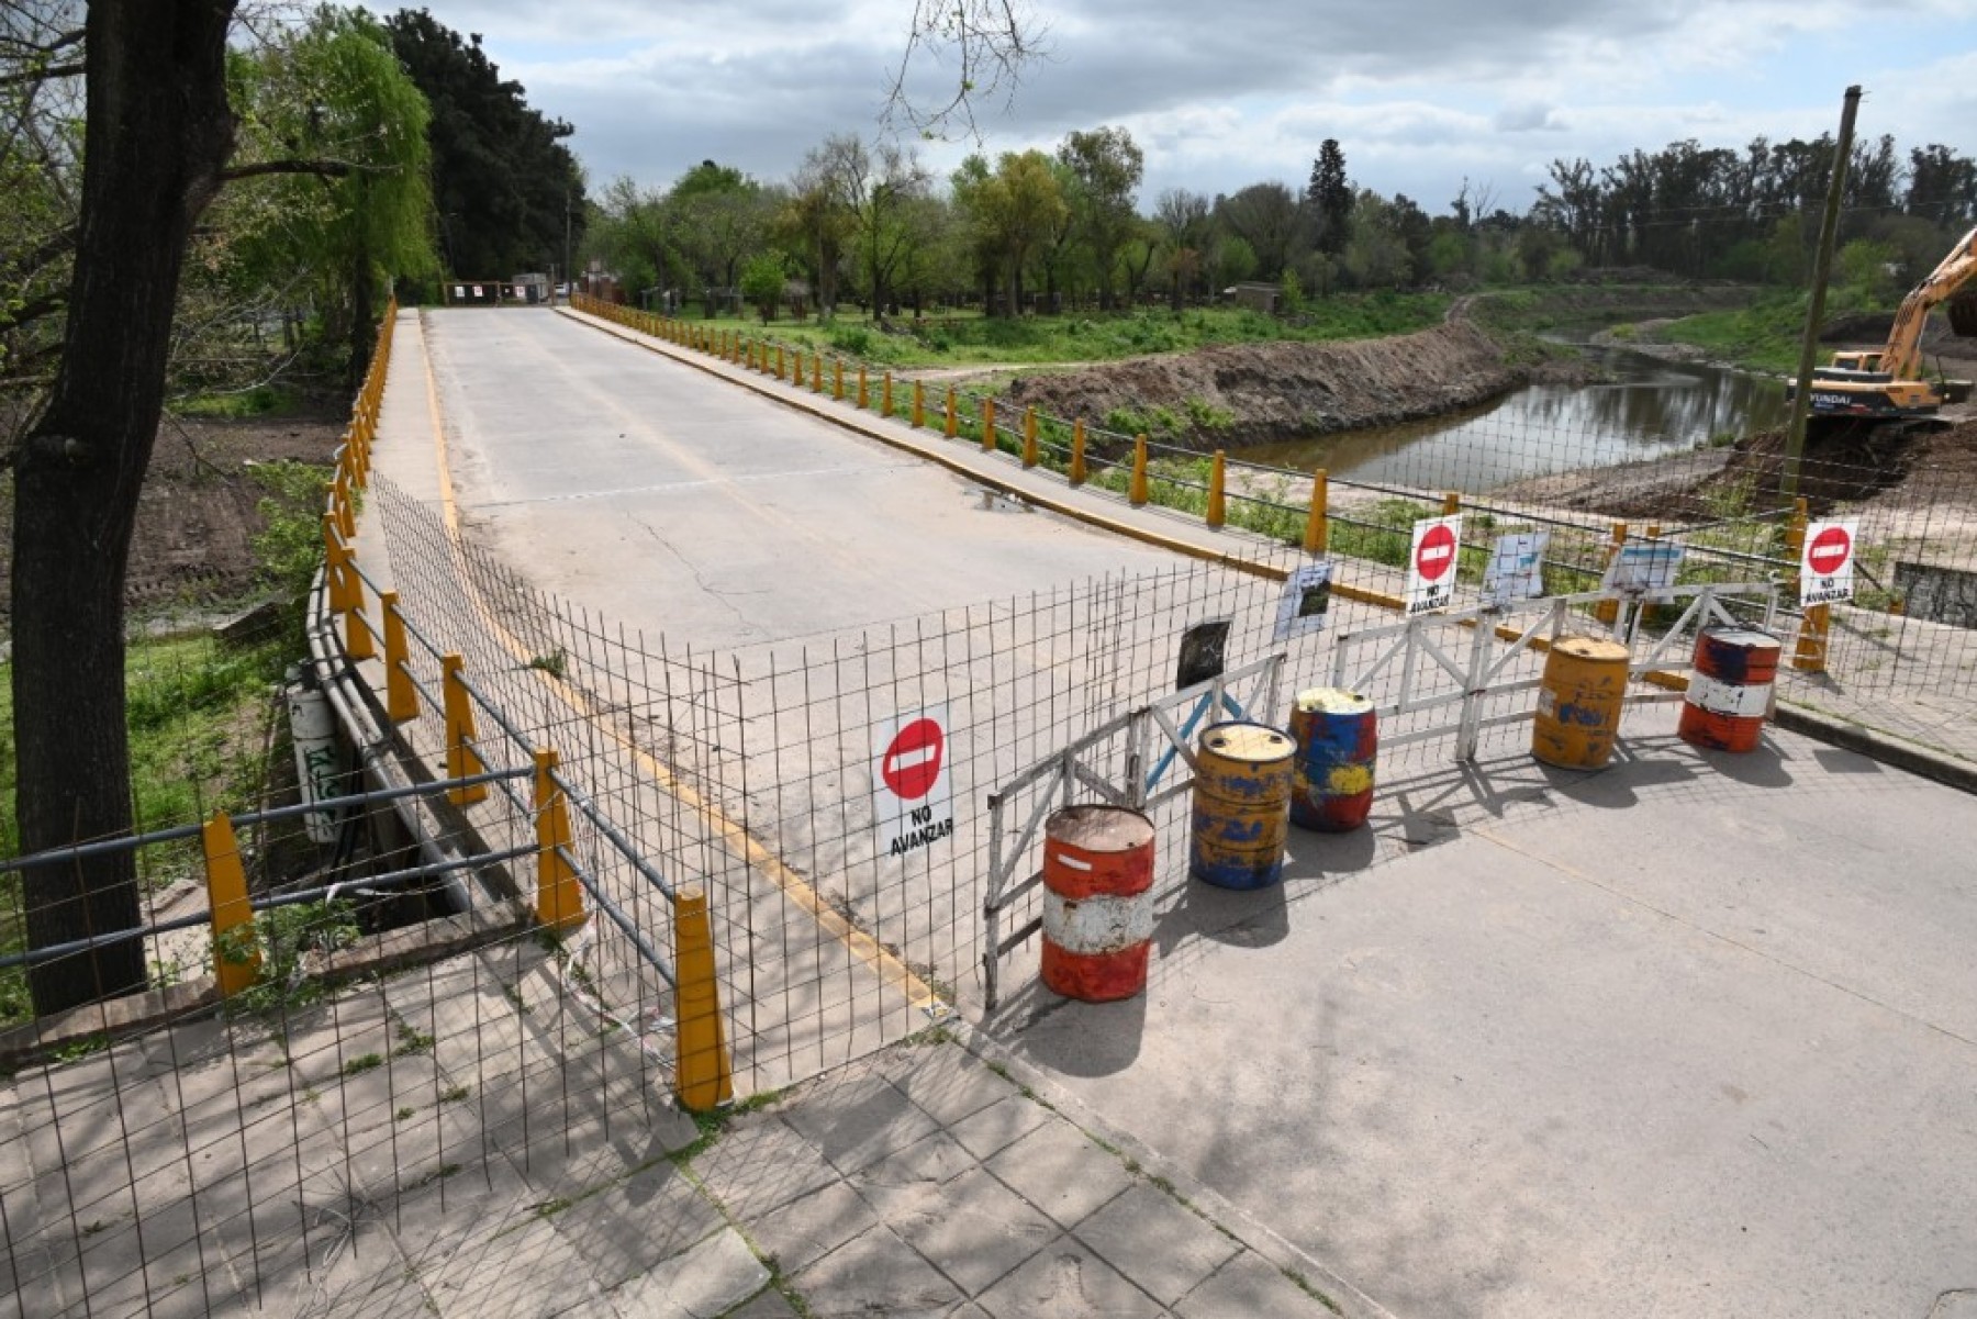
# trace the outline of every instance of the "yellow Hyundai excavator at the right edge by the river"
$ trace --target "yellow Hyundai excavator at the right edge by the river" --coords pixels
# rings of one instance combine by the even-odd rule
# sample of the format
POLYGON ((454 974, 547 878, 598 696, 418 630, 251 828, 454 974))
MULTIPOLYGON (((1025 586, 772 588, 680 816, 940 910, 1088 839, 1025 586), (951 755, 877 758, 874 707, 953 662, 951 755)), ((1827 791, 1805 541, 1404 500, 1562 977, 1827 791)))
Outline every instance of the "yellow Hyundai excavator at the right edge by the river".
POLYGON ((1922 376, 1922 328, 1930 312, 1949 303, 1949 328, 1955 334, 1977 336, 1977 297, 1963 293, 1977 281, 1977 229, 1949 249, 1949 255, 1902 299, 1888 330, 1888 344, 1878 350, 1835 352, 1833 366, 1813 370, 1813 390, 1807 413, 1813 421, 1910 419, 1924 425, 1945 401, 1945 392, 1922 376))

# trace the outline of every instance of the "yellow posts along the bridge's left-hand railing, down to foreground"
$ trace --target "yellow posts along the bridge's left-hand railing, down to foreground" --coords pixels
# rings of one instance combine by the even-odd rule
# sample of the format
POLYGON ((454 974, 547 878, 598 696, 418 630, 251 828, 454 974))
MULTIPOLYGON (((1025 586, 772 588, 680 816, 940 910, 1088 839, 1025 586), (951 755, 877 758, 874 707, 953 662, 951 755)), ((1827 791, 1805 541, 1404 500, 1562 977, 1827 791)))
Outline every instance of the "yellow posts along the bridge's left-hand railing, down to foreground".
MULTIPOLYGON (((370 481, 372 445, 378 439, 378 417, 384 407, 386 372, 391 360, 391 330, 397 322, 397 303, 386 307, 378 328, 378 348, 370 372, 358 390, 350 427, 336 451, 336 473, 322 514, 324 591, 332 613, 344 621, 344 655, 354 660, 376 659, 384 645, 386 716, 397 726, 419 718, 419 688, 411 678, 405 645, 407 627, 395 591, 378 593, 376 629, 364 611, 364 575, 356 564, 356 496, 370 481)), ((461 655, 441 660, 441 716, 445 720, 445 755, 449 779, 474 779, 486 773, 486 761, 476 749, 474 700, 467 686, 461 655)), ((558 787, 558 755, 550 747, 534 749, 530 811, 536 825, 536 923, 552 931, 571 931, 589 920, 583 904, 583 882, 569 860, 569 799, 558 787)), ((488 783, 465 783, 447 789, 447 801, 467 807, 484 801, 488 783)), ((249 989, 261 969, 253 943, 253 906, 247 898, 247 876, 241 866, 233 821, 215 811, 202 829, 206 852, 206 884, 212 910, 215 977, 221 997, 249 989), (223 953, 221 953, 223 949, 223 953)), ((720 1011, 720 987, 714 963, 714 931, 706 890, 698 884, 676 886, 672 894, 672 959, 678 1022, 674 1090, 694 1111, 708 1111, 733 1098, 733 1072, 728 1054, 726 1026, 720 1011)))

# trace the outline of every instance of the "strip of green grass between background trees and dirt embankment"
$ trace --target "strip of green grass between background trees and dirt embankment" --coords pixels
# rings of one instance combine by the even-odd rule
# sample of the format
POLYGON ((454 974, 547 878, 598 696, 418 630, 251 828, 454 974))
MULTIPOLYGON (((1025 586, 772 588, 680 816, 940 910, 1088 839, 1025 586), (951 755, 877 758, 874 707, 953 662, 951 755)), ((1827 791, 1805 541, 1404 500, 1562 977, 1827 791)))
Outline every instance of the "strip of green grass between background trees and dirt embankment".
MULTIPOLYGON (((870 318, 840 312, 834 322, 757 318, 718 320, 753 338, 769 338, 805 352, 824 350, 874 366, 1050 366, 1062 362, 1115 362, 1155 352, 1190 352, 1212 344, 1325 342, 1408 334, 1439 324, 1447 314, 1443 293, 1368 293, 1313 299, 1297 322, 1228 307, 1170 312, 1089 312, 1070 316, 983 316, 955 312, 927 316, 917 332, 880 330, 870 318)), ((911 316, 894 316, 898 330, 911 316)))

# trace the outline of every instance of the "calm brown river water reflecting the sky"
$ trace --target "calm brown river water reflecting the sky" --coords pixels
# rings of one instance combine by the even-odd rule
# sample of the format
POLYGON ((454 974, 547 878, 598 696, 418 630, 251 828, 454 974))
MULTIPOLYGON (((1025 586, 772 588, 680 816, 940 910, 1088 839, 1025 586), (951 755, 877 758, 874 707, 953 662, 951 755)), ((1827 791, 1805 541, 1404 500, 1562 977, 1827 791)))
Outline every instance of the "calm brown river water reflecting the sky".
POLYGON ((1368 484, 1491 490, 1506 481, 1611 467, 1785 421, 1781 380, 1625 348, 1582 348, 1605 372, 1590 386, 1528 386, 1483 407, 1346 435, 1247 445, 1246 463, 1327 469, 1368 484))

